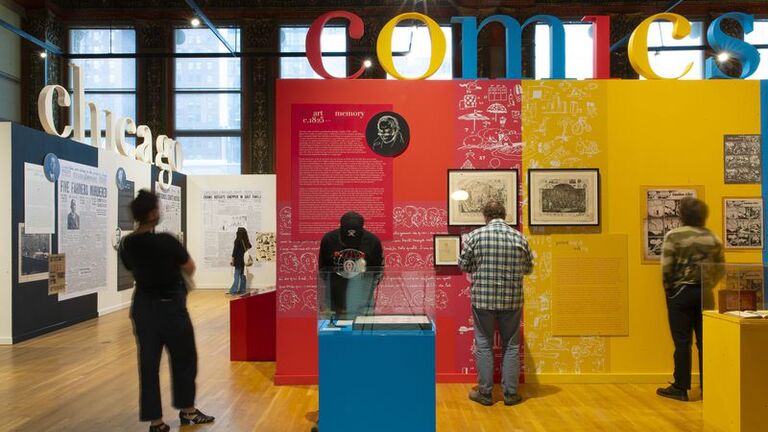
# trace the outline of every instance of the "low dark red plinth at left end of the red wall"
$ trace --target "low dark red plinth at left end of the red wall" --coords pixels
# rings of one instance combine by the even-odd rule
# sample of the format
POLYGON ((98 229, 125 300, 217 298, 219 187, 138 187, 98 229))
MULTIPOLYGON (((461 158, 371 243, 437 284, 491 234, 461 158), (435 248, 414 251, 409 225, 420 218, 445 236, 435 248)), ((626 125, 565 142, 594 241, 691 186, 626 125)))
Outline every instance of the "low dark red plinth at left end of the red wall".
POLYGON ((275 291, 252 293, 229 302, 229 359, 275 360, 275 291))

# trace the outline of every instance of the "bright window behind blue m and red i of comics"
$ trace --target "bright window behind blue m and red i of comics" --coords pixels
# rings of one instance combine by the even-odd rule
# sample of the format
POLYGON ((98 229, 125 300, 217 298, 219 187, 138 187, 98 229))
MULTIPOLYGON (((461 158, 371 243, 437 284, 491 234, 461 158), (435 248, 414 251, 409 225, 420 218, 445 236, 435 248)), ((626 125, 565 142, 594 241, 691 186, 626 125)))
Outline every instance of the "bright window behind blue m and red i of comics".
MULTIPOLYGON (((565 76, 570 79, 594 78, 592 24, 564 23, 565 27, 565 76)), ((536 79, 550 78, 549 26, 536 24, 534 38, 534 71, 536 79)))

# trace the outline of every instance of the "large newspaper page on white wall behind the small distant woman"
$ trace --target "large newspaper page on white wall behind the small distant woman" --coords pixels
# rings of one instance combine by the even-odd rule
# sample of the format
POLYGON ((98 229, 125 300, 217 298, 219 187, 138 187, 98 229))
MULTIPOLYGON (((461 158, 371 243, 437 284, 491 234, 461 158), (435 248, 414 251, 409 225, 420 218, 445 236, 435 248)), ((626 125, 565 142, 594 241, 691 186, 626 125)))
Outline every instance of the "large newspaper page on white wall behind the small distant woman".
POLYGON ((262 192, 259 190, 203 191, 202 267, 229 268, 237 228, 248 230, 251 239, 261 230, 262 192))

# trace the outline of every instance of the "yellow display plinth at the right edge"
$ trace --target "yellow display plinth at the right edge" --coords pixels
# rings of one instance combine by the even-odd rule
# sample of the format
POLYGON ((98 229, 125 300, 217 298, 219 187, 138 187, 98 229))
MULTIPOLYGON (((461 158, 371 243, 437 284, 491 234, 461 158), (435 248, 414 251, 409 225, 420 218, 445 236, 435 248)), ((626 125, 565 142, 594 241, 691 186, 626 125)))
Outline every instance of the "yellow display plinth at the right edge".
POLYGON ((768 319, 704 312, 704 420, 723 431, 764 430, 768 319))

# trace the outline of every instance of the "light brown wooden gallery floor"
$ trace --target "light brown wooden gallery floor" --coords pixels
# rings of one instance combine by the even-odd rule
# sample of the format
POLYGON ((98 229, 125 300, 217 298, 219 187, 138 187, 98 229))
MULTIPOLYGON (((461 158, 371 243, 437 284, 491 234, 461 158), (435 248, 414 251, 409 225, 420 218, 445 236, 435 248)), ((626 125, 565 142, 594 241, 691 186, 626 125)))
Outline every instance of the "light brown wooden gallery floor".
MULTIPOLYGON (((275 387, 274 363, 229 361, 222 291, 193 293, 190 310, 200 356, 197 402, 217 420, 183 430, 308 431, 317 417, 317 387, 275 387)), ((163 362, 164 412, 178 430, 163 362)), ((471 387, 437 386, 438 431, 713 430, 703 425, 700 400, 663 399, 654 394, 655 385, 524 385, 521 405, 497 402, 490 408, 467 400, 471 387)), ((126 310, 0 346, 2 431, 146 431, 137 402, 136 349, 126 310)))

